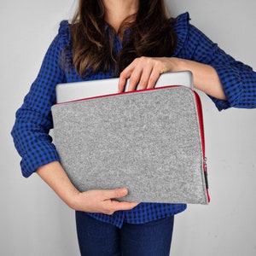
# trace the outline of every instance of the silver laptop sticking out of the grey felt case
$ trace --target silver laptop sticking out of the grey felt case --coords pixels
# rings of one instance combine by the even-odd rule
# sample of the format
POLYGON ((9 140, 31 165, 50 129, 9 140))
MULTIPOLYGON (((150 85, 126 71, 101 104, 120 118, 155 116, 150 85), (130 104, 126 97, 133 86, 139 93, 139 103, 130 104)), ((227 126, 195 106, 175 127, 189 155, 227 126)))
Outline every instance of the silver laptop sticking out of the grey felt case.
MULTIPOLYGON (((100 79, 56 85, 56 102, 71 102, 95 96, 106 96, 118 93, 119 78, 100 79)), ((125 91, 128 89, 129 79, 125 91)), ((189 71, 163 73, 155 87, 182 85, 193 89, 193 75, 189 71)))

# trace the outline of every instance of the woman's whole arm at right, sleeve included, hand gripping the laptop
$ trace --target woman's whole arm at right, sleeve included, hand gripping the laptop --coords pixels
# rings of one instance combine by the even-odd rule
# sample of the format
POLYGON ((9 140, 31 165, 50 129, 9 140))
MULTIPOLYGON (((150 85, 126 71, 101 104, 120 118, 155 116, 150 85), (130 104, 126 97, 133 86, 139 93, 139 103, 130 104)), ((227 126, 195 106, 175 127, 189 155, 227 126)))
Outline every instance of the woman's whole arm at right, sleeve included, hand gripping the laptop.
POLYGON ((256 73, 252 67, 236 61, 212 40, 189 24, 189 15, 177 18, 177 49, 170 58, 140 57, 120 74, 119 91, 130 78, 129 90, 137 83, 152 88, 160 73, 190 70, 195 88, 207 93, 218 110, 256 108, 256 73), (148 83, 148 84, 147 84, 148 83))

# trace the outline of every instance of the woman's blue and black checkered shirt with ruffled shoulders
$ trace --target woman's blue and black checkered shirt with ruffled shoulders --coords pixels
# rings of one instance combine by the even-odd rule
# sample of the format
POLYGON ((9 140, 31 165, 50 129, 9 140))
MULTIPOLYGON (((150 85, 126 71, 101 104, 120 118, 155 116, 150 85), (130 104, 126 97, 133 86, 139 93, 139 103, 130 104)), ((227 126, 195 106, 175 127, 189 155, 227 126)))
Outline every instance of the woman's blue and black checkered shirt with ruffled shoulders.
MULTIPOLYGON (((189 23, 189 14, 179 15, 175 25, 177 33, 177 49, 173 56, 201 63, 215 68, 223 84, 227 101, 212 98, 218 110, 236 108, 255 108, 256 106, 256 73, 240 61, 218 48, 217 44, 207 38, 195 26, 189 23)), ((22 173, 29 177, 51 161, 59 160, 49 130, 53 128, 50 108, 55 104, 55 85, 91 79, 108 79, 113 71, 101 71, 85 75, 84 79, 73 67, 72 51, 70 50, 71 34, 67 20, 61 21, 60 29, 50 44, 44 57, 43 65, 37 79, 26 95, 23 105, 16 113, 12 135, 22 160, 22 173), (65 59, 65 67, 60 59, 65 59)), ((122 45, 115 38, 114 50, 119 51, 122 45)), ((183 212, 184 204, 141 203, 130 211, 114 212, 113 215, 88 213, 93 218, 121 227, 124 222, 143 224, 148 221, 164 218, 183 212)))

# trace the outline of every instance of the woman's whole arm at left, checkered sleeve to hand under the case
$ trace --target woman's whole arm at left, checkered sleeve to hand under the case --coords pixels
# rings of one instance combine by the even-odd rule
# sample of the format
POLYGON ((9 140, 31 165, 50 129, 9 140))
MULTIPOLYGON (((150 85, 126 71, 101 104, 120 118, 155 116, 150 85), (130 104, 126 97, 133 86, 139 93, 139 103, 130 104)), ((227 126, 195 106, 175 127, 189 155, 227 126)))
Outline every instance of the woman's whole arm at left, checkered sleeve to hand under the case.
POLYGON ((59 163, 59 156, 49 136, 53 128, 51 107, 55 104, 55 85, 66 82, 61 53, 67 46, 68 23, 61 23, 58 35, 50 44, 37 79, 16 113, 12 130, 15 146, 22 157, 25 177, 37 172, 69 207, 85 212, 112 214, 137 206, 134 202, 113 201, 125 196, 127 189, 93 190, 80 193, 59 163))

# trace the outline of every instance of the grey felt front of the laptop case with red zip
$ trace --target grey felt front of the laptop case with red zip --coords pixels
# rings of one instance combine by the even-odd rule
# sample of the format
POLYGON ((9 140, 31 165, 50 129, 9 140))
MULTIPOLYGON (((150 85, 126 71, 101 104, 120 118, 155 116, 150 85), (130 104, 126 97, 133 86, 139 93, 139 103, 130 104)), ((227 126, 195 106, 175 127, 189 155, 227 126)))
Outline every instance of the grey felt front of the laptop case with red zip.
POLYGON ((57 104, 54 141, 80 190, 125 201, 207 204, 195 94, 183 86, 57 104))

